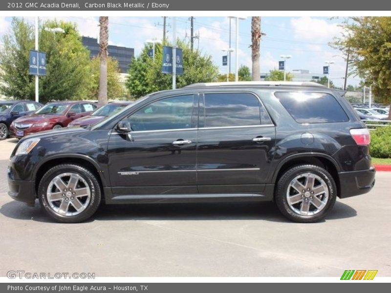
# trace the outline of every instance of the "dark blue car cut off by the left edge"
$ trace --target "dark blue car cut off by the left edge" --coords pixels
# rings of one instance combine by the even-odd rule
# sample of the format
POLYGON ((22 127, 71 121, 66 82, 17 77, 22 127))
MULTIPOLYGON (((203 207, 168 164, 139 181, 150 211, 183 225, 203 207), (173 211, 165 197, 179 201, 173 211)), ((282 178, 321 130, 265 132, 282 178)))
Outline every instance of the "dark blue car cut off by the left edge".
POLYGON ((0 101, 0 140, 8 137, 11 123, 22 116, 34 113, 42 104, 32 101, 0 101))

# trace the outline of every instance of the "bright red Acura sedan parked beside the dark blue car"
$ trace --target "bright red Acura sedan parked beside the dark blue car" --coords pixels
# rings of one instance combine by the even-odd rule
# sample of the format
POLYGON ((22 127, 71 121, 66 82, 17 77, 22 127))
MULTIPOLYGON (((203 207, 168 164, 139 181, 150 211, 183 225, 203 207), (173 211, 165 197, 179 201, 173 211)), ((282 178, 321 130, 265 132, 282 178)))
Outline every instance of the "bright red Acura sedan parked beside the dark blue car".
POLYGON ((97 105, 90 102, 53 102, 29 116, 14 120, 10 126, 10 136, 23 136, 44 130, 66 127, 75 119, 91 114, 97 105))

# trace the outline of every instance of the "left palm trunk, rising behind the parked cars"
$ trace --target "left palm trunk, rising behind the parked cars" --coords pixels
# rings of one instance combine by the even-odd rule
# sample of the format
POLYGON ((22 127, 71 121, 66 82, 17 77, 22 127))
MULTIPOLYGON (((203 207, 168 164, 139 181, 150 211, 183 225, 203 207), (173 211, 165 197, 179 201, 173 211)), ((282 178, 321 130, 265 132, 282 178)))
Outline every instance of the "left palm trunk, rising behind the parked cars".
POLYGON ((100 75, 99 75, 99 94, 98 104, 104 105, 107 99, 107 46, 109 43, 109 17, 99 17, 99 58, 100 58, 100 75))

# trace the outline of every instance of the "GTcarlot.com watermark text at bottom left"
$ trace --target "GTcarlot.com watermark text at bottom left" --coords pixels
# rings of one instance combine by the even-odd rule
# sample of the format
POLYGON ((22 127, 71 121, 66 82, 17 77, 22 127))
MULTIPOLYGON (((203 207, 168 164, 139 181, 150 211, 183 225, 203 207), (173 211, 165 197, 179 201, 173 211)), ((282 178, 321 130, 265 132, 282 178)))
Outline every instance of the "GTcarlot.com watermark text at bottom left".
POLYGON ((95 279, 94 272, 26 272, 8 271, 9 279, 95 279))

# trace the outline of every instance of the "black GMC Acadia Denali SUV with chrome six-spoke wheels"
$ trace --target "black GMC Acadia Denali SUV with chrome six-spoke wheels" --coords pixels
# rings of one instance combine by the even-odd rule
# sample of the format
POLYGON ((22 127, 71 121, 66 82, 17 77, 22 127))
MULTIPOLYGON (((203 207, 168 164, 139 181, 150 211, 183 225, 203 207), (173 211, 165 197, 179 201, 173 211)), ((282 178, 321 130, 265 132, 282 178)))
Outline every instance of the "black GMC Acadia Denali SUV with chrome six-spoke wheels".
POLYGON ((8 194, 60 222, 99 204, 275 201, 297 222, 368 192, 369 131, 339 92, 314 83, 193 84, 153 93, 87 128, 15 147, 8 194))

